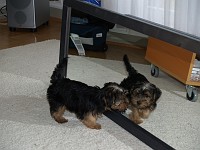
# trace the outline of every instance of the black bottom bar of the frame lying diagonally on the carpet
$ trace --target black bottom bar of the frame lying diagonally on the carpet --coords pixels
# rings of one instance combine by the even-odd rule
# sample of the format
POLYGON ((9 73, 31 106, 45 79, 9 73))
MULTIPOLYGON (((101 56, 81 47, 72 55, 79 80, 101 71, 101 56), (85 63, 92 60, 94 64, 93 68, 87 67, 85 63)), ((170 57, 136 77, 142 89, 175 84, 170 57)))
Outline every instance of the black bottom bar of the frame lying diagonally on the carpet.
POLYGON ((142 127, 130 121, 128 118, 123 116, 119 112, 115 111, 106 111, 105 116, 110 118, 112 121, 117 123, 119 126, 124 128, 126 131, 137 137, 139 140, 147 144, 149 147, 155 150, 174 150, 171 146, 164 143, 150 132, 146 131, 142 127))

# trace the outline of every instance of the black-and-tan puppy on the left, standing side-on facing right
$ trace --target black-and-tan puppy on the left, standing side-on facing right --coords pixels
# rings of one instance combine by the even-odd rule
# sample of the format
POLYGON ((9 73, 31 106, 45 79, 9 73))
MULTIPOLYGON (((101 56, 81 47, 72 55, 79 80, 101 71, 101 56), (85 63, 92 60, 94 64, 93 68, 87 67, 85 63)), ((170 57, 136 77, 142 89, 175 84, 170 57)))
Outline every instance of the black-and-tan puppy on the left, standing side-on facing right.
POLYGON ((76 117, 88 128, 101 129, 96 120, 106 110, 125 111, 128 107, 127 91, 119 84, 105 83, 103 88, 61 77, 66 59, 58 64, 51 76, 47 89, 50 114, 58 123, 68 122, 63 117, 65 110, 75 113, 76 117))

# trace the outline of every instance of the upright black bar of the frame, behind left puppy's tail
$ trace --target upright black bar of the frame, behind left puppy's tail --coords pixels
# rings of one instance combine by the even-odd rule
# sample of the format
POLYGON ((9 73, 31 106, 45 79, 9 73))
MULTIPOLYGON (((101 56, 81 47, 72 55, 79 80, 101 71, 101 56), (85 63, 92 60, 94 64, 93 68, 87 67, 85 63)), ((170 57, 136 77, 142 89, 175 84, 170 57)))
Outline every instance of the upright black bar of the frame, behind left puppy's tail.
POLYGON ((67 76, 69 36, 70 36, 71 7, 65 6, 62 11, 61 37, 60 37, 60 55, 59 63, 66 58, 66 66, 63 69, 63 77, 67 76))

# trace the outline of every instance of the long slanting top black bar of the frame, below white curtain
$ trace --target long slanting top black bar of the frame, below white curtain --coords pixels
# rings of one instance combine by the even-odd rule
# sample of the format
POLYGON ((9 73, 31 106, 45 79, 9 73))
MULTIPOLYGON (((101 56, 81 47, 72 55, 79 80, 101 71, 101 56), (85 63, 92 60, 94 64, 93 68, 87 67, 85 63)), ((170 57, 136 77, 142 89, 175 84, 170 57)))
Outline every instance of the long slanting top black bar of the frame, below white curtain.
POLYGON ((200 54, 200 37, 138 17, 109 11, 81 0, 65 0, 64 5, 200 54))

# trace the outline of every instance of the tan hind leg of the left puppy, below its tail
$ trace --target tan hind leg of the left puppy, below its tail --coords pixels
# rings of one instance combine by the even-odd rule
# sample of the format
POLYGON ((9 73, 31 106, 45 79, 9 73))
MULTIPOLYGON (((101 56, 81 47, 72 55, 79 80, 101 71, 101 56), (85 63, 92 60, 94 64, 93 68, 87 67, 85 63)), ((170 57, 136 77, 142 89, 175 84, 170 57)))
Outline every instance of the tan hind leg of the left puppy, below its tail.
MULTIPOLYGON (((50 108, 50 110, 51 110, 51 108, 50 108)), ((60 106, 56 109, 56 111, 55 111, 55 109, 54 109, 54 111, 51 111, 51 116, 58 123, 68 122, 68 120, 63 117, 65 110, 66 110, 65 106, 60 106)))

